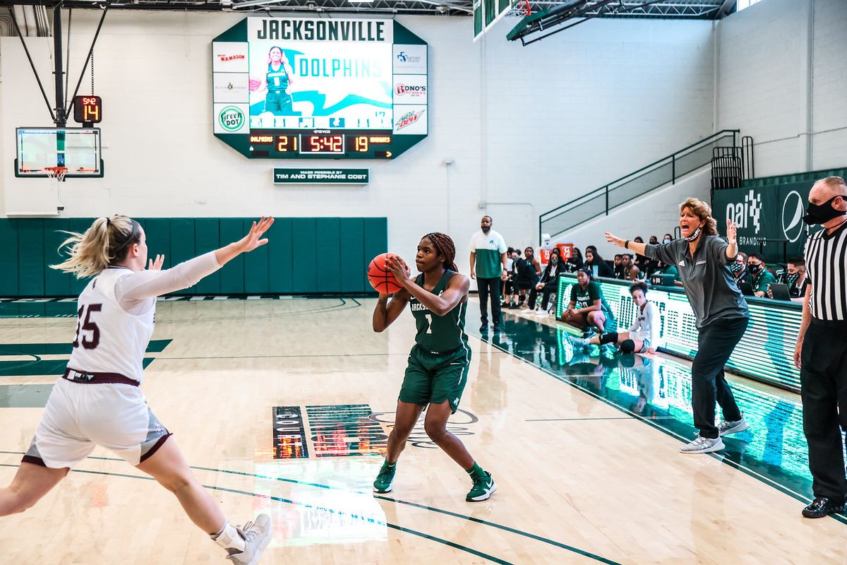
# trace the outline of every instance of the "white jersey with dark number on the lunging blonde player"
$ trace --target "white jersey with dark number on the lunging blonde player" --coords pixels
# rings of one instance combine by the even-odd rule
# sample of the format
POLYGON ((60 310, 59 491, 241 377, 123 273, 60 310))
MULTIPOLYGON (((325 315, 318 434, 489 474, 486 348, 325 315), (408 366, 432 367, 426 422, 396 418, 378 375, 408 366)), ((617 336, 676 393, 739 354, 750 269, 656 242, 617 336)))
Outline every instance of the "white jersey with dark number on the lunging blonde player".
POLYGON ((91 280, 77 299, 76 334, 68 368, 79 373, 119 374, 141 384, 144 352, 153 333, 156 299, 139 315, 128 313, 114 287, 130 269, 109 267, 91 280))

